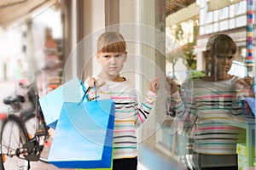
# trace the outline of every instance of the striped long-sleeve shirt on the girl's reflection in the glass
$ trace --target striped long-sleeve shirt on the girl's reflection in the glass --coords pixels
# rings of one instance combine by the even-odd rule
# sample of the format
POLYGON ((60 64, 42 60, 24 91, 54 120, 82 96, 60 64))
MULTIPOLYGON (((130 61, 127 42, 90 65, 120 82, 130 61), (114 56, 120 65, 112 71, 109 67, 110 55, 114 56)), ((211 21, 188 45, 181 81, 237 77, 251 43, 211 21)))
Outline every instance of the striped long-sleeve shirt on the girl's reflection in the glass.
MULTIPOLYGON (((236 154, 239 128, 232 126, 234 115, 241 115, 240 99, 247 95, 236 85, 238 77, 219 82, 196 79, 184 103, 178 93, 172 94, 181 121, 195 121, 193 150, 210 155, 236 154), (186 107, 186 108, 185 108, 186 107)), ((193 122, 190 122, 193 123, 193 122)))

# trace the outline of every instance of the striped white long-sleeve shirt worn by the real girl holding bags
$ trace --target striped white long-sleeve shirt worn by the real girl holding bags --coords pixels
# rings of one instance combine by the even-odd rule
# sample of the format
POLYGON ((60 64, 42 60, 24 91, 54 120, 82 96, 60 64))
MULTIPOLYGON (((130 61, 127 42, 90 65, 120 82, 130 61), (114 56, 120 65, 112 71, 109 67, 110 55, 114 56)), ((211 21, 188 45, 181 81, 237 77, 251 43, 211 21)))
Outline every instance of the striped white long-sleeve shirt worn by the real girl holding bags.
MULTIPOLYGON (((96 77, 96 79, 99 79, 96 77)), ((137 156, 136 128, 149 116, 154 105, 156 94, 148 91, 143 103, 137 103, 137 90, 133 83, 106 81, 105 85, 96 89, 97 99, 113 99, 115 104, 113 159, 137 156)))

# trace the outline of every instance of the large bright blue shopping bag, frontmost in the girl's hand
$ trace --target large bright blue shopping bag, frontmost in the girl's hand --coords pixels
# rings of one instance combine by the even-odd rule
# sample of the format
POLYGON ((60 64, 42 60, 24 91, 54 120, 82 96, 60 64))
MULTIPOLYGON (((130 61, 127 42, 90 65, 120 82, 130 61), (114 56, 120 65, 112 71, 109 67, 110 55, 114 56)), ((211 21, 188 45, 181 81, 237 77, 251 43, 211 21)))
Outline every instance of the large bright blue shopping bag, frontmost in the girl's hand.
POLYGON ((110 168, 113 154, 112 99, 64 102, 49 150, 60 168, 110 168))

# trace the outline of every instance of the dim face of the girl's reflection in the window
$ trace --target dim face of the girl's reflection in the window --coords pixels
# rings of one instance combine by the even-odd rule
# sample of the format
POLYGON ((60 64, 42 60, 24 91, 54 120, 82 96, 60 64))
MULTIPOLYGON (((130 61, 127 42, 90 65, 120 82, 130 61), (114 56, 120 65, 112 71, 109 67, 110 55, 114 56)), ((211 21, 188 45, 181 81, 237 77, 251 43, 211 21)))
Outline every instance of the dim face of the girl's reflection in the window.
POLYGON ((219 75, 227 74, 230 71, 234 54, 212 54, 212 69, 219 75))

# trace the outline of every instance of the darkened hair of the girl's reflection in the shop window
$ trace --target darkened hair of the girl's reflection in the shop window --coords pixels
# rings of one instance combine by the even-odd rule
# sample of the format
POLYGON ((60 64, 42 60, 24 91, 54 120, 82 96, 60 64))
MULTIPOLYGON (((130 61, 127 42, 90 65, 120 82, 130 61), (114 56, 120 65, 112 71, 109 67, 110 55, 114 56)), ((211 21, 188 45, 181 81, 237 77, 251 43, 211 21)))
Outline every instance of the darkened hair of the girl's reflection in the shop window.
POLYGON ((225 34, 215 34, 207 42, 210 54, 236 54, 236 43, 225 34))

